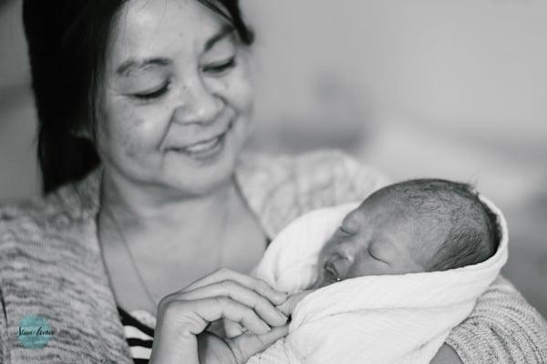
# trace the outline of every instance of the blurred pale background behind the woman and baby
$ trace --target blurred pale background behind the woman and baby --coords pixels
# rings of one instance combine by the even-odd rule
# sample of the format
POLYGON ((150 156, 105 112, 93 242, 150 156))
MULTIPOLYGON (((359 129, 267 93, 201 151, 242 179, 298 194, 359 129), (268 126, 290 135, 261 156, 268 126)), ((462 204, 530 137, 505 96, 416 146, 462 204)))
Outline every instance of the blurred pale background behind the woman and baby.
MULTIPOLYGON (((505 274, 547 315, 547 2, 243 0, 257 130, 336 147, 394 180, 476 183, 505 211, 505 274)), ((0 0, 0 198, 38 193, 20 0, 0 0)))

